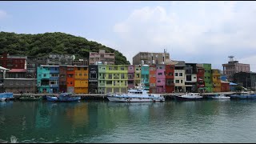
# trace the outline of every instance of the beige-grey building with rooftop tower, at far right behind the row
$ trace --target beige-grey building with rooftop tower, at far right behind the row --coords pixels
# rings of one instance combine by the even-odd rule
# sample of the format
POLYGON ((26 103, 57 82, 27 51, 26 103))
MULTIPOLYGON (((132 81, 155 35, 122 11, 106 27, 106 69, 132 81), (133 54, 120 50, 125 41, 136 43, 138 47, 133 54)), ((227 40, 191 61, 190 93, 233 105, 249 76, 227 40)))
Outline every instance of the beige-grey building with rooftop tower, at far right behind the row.
POLYGON ((233 82, 234 79, 232 78, 233 74, 238 72, 250 72, 250 64, 242 64, 238 63, 238 61, 234 61, 234 56, 229 56, 230 62, 226 64, 222 64, 223 66, 223 74, 226 75, 228 81, 233 82))

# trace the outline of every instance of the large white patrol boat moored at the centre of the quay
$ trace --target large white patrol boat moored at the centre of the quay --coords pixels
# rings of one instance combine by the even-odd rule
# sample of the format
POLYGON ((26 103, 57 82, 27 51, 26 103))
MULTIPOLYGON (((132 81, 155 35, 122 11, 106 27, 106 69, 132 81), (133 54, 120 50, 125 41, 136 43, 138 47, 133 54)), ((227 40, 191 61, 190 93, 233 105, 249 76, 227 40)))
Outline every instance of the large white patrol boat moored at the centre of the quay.
POLYGON ((106 98, 110 102, 164 102, 165 98, 161 94, 149 94, 144 89, 143 82, 139 83, 135 89, 128 90, 127 94, 107 94, 106 98))

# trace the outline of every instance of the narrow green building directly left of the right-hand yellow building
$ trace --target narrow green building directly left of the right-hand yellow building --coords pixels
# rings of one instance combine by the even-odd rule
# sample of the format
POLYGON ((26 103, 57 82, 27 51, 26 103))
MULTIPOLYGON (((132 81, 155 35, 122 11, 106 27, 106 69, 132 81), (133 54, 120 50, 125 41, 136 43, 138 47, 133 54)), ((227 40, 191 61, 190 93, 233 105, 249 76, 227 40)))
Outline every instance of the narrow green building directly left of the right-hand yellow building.
POLYGON ((211 64, 210 63, 203 63, 202 68, 205 70, 205 92, 211 93, 214 90, 213 87, 213 79, 212 79, 212 74, 211 74, 211 64))

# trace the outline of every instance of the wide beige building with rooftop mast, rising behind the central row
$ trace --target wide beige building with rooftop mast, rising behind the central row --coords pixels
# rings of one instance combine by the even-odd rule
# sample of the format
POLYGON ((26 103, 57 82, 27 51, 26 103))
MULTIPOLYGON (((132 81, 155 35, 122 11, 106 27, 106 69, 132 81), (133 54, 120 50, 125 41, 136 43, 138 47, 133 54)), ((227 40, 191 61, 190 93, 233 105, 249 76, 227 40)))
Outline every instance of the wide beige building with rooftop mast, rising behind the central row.
POLYGON ((139 52, 133 58, 133 65, 139 64, 170 64, 170 54, 166 50, 164 50, 164 53, 139 52))

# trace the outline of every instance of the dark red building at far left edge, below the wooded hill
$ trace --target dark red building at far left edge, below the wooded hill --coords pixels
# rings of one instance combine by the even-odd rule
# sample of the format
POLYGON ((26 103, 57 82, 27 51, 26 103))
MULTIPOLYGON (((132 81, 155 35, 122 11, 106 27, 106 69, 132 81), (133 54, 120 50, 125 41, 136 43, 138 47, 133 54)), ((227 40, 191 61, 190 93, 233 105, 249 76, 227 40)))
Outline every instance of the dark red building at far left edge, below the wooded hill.
POLYGON ((0 66, 7 69, 26 69, 26 57, 10 56, 7 53, 2 54, 0 66))

